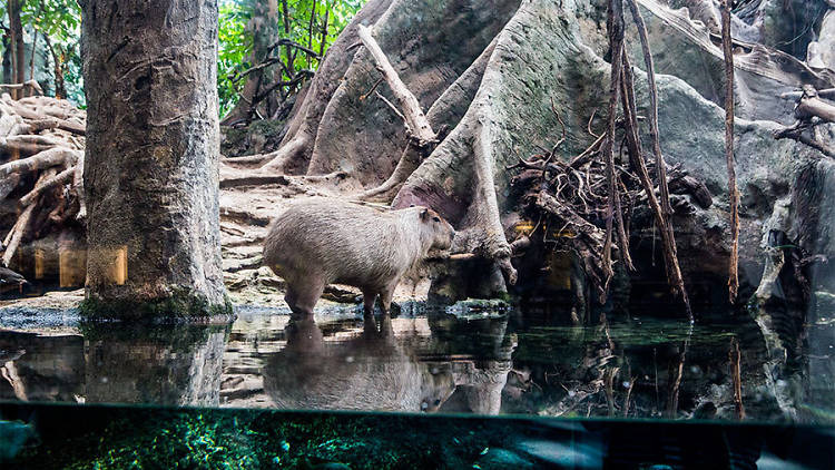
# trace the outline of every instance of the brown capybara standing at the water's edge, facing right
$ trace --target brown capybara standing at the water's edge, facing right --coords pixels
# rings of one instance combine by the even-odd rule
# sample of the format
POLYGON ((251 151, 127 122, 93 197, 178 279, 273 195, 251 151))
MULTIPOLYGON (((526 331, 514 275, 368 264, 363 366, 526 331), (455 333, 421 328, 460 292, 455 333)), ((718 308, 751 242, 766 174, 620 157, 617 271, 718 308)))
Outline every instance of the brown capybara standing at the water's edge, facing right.
POLYGON ((389 313, 394 287, 432 248, 446 249, 455 231, 426 207, 382 210, 338 199, 293 204, 274 222, 264 243, 264 263, 287 283, 296 317, 312 317, 327 284, 363 292, 365 313, 389 313))

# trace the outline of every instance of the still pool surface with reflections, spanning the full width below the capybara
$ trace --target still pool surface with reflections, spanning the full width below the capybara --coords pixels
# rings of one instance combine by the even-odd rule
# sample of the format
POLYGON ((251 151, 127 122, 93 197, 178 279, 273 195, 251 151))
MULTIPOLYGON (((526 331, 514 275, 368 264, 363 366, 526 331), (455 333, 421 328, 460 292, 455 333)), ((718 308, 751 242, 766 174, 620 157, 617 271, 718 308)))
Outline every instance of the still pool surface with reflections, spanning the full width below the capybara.
POLYGON ((128 326, 4 309, 0 400, 832 423, 833 325, 807 337, 805 355, 777 366, 747 317, 569 326, 406 304, 390 320, 239 307, 230 325, 128 326))

